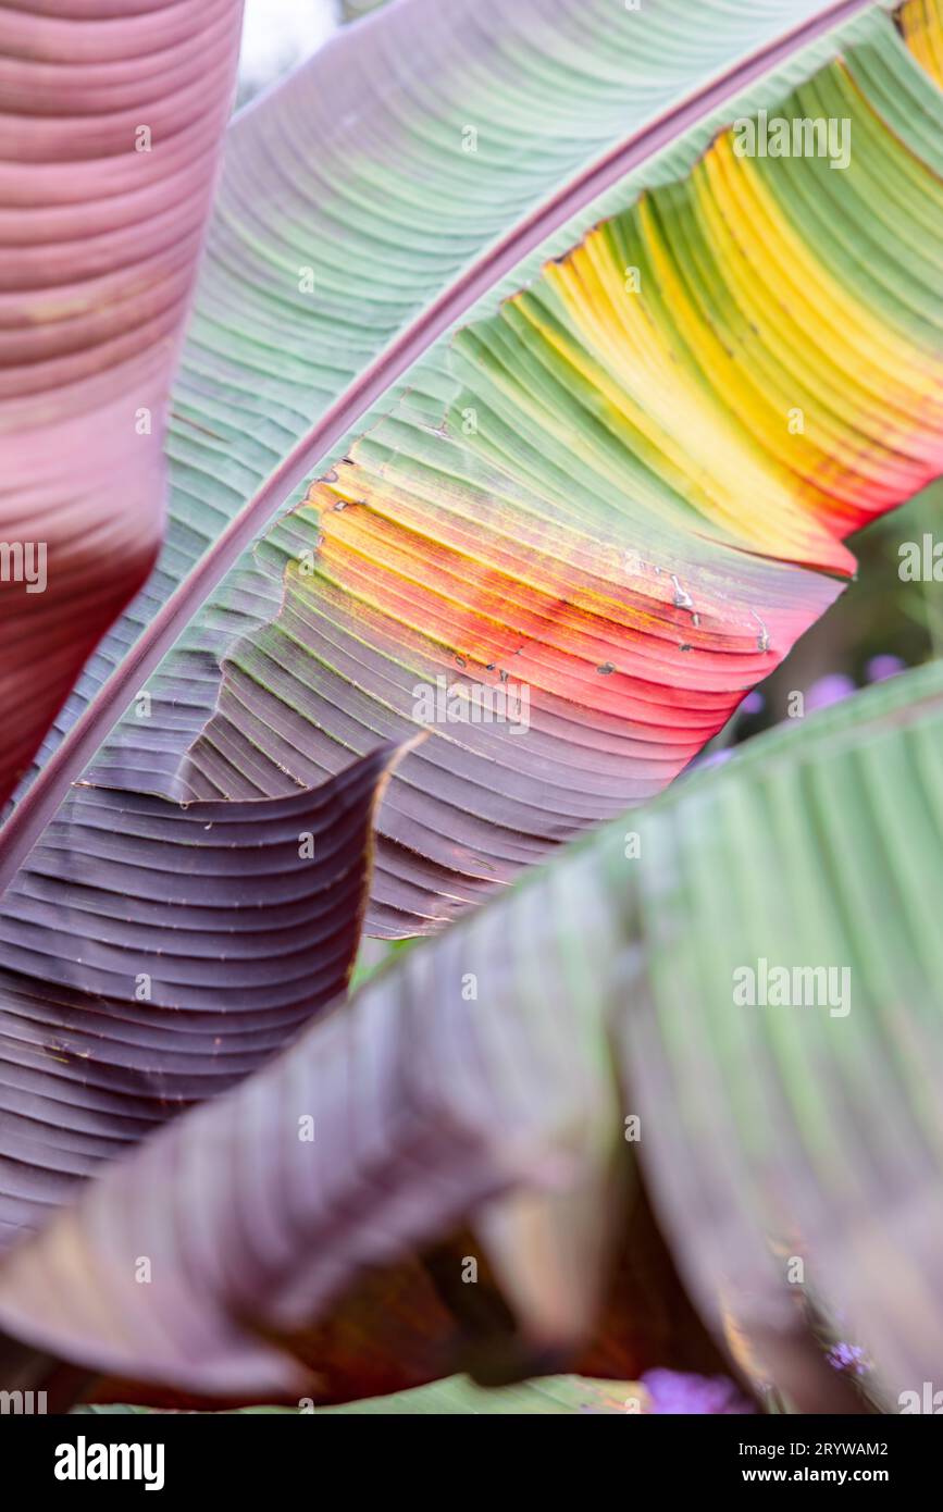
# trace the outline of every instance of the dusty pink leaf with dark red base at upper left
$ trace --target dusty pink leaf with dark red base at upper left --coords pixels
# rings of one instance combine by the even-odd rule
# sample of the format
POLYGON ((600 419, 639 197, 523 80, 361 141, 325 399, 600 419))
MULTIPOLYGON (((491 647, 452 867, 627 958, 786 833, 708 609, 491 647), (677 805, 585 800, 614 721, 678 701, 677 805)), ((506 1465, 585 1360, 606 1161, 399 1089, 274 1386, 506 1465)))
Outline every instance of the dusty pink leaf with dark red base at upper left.
POLYGON ((160 543, 240 18, 0 5, 0 801, 160 543))

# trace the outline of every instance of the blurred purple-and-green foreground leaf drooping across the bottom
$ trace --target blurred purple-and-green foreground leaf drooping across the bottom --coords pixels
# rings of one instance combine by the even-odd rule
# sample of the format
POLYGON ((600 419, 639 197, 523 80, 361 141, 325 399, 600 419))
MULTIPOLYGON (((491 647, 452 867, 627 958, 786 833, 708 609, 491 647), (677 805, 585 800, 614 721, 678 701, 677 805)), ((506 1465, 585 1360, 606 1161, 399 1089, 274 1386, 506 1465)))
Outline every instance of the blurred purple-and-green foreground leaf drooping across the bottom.
POLYGON ((5 1328, 125 1376, 301 1397, 311 1320, 467 1222, 453 1264, 499 1276, 515 1364, 559 1358, 639 1160, 757 1390, 834 1411, 837 1337, 893 1408, 943 1347, 941 742, 934 664, 573 847, 88 1185, 0 1266, 5 1328), (763 962, 824 986, 777 1001, 763 962))

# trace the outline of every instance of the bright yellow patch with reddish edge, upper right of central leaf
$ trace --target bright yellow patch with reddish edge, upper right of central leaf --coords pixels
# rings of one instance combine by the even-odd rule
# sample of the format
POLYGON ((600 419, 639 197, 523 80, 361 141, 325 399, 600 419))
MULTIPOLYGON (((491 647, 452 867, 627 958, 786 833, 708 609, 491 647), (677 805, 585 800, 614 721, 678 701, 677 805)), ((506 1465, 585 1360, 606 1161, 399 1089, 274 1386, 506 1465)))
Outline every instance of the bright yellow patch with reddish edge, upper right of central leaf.
MULTIPOLYGON (((861 141, 877 122, 861 109, 852 124, 861 141)), ((775 171, 724 133, 657 212, 642 197, 624 263, 603 224, 546 269, 565 325, 540 289, 514 302, 704 520, 763 555, 848 572, 840 538, 940 470, 943 355, 819 262, 775 171)), ((854 157, 846 171, 854 183, 854 157)))

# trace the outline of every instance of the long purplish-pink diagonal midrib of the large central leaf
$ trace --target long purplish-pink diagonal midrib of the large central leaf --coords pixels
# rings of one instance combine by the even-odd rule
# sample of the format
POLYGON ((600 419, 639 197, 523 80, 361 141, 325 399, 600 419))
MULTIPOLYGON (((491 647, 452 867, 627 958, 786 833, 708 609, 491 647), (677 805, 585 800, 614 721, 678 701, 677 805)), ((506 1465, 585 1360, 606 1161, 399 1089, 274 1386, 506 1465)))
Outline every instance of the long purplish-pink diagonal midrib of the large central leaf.
POLYGON ((712 109, 771 73, 777 64, 807 42, 833 30, 857 12, 872 8, 875 0, 839 0, 827 6, 818 17, 789 27, 719 77, 692 91, 654 121, 633 132, 493 242, 373 358, 246 500, 63 736, 0 830, 0 894, 9 886, 54 816, 71 783, 82 776, 138 688, 171 650, 203 602, 239 561, 296 484, 388 392, 391 384, 527 253, 540 246, 604 189, 671 145, 712 109))

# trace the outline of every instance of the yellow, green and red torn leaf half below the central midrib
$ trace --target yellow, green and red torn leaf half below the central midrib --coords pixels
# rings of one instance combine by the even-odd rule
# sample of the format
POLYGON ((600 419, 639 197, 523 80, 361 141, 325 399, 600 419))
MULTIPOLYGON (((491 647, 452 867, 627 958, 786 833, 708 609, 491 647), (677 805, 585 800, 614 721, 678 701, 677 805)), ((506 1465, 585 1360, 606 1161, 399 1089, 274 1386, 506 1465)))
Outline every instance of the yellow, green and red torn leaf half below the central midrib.
POLYGON ((181 792, 287 791, 426 720, 379 821, 369 927, 397 936, 677 776, 831 602, 843 537, 943 464, 943 187, 873 62, 778 109, 845 122, 845 166, 724 133, 458 333, 444 426, 403 407, 293 516, 181 792))

